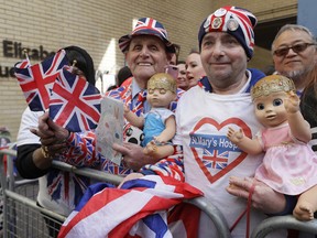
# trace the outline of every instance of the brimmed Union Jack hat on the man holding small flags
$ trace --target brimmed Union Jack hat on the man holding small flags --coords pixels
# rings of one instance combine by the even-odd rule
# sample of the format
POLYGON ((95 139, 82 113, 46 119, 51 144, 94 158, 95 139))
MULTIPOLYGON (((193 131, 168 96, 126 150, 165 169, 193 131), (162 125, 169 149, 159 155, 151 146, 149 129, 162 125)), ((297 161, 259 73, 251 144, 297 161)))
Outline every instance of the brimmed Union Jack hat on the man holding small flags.
POLYGON ((135 35, 155 35, 163 41, 167 52, 175 53, 175 46, 168 41, 166 29, 152 18, 139 19, 132 32, 119 39, 119 48, 123 53, 128 51, 131 39, 135 35))

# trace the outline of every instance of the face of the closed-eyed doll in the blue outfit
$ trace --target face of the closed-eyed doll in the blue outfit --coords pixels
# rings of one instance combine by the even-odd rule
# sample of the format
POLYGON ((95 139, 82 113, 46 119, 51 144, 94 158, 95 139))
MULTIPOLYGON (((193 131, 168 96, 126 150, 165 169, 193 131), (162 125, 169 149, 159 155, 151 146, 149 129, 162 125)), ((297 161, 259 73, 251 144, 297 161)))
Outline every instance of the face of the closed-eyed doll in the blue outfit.
POLYGON ((174 93, 164 88, 147 88, 146 100, 153 108, 167 108, 175 97, 174 93))

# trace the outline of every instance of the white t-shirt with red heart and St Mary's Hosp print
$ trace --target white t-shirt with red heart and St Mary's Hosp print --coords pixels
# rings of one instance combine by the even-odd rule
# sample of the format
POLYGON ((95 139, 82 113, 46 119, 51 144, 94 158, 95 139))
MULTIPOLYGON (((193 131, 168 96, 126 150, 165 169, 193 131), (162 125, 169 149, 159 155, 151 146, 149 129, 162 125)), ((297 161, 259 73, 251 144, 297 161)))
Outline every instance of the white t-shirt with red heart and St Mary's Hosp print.
MULTIPOLYGON (((236 130, 243 128, 249 137, 262 128, 255 119, 250 94, 217 95, 195 86, 178 101, 176 125, 177 133, 173 142, 183 145, 186 182, 201 190, 231 227, 247 208, 247 201, 226 191, 229 176, 252 177, 263 158, 263 154, 241 152, 227 138, 228 127, 236 130)), ((205 234, 215 232, 216 228, 211 227, 211 221, 205 215, 203 217, 200 237, 217 237, 205 234)), ((264 218, 261 212, 252 209, 250 234, 264 218)), ((232 237, 245 237, 245 227, 244 216, 232 230, 232 237)))

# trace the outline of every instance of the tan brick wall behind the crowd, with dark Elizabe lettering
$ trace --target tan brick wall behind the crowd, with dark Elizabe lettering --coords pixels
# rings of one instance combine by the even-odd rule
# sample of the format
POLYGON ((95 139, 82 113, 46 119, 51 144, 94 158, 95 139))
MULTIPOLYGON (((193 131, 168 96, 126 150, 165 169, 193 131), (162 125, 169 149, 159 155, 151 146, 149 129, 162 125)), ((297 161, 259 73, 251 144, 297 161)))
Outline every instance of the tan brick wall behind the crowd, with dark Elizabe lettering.
MULTIPOLYGON (((129 33, 132 19, 152 17, 161 21, 172 42, 182 46, 181 60, 197 47, 197 32, 201 21, 223 4, 236 4, 259 13, 259 20, 296 14, 292 6, 297 1, 210 1, 210 0, 11 0, 0 8, 0 126, 7 126, 15 140, 21 113, 26 104, 15 78, 6 76, 20 61, 4 57, 3 41, 22 43, 22 47, 47 52, 67 45, 86 48, 95 61, 95 68, 110 75, 124 65, 118 50, 118 39, 129 33), (288 7, 288 8, 287 8, 288 7), (274 10, 281 10, 274 12, 274 10)), ((8 53, 8 52, 7 52, 8 53)), ((9 53, 12 53, 9 52, 9 53)), ((264 52, 265 53, 265 52, 264 52)), ((264 54, 265 55, 265 54, 264 54)), ((263 57, 264 55, 261 55, 263 57)), ((267 55, 265 55, 267 58, 267 55)), ((271 61, 271 60, 270 60, 271 61)), ((37 60, 31 60, 36 63, 37 60)))

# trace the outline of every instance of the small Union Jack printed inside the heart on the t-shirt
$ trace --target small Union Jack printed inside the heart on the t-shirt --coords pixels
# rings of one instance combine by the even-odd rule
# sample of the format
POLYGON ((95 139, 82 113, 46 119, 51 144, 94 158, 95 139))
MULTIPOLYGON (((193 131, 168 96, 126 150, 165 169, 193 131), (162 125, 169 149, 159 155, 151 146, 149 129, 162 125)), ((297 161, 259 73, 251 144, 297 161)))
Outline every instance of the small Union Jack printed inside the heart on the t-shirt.
POLYGON ((203 162, 207 167, 222 170, 228 164, 229 151, 219 151, 211 149, 211 151, 204 149, 203 162))

